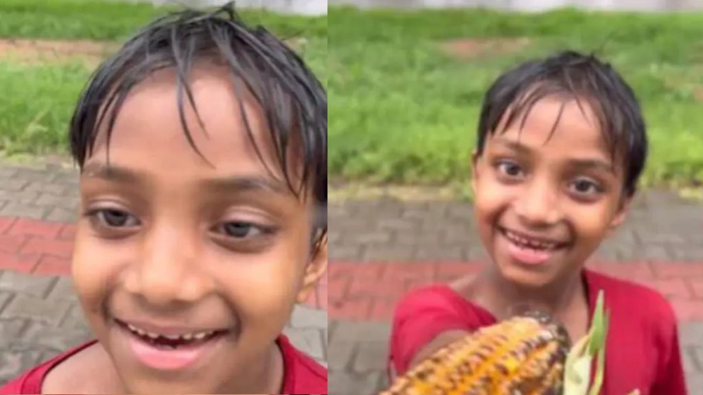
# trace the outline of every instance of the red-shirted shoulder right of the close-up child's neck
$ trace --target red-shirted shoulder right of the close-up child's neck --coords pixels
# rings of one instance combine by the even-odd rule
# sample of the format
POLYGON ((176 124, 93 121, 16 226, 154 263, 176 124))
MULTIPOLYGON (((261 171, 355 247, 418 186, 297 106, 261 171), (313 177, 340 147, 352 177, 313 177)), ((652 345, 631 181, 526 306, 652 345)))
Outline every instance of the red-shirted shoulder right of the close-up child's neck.
POLYGON ((278 345, 283 354, 285 394, 327 394, 327 369, 296 349, 288 337, 281 335, 278 345))

